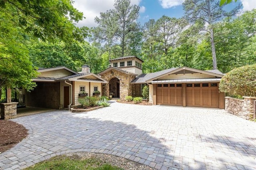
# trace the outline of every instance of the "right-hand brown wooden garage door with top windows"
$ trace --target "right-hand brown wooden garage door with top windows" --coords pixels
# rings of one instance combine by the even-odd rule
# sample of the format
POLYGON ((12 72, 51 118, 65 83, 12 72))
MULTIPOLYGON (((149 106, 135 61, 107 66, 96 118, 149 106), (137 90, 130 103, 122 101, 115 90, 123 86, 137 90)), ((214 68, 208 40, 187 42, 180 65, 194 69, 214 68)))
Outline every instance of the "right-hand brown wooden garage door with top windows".
POLYGON ((219 108, 218 83, 187 83, 186 106, 219 108))

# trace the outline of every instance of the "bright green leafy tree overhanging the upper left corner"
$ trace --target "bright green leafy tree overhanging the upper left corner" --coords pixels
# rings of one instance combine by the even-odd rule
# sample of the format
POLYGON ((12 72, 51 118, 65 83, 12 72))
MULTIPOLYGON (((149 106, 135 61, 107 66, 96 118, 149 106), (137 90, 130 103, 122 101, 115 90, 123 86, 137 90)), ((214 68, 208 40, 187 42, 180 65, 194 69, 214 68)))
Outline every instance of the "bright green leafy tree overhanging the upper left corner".
POLYGON ((66 42, 83 41, 87 28, 78 28, 73 22, 82 20, 70 0, 1 0, 0 1, 0 86, 8 90, 24 87, 32 89, 36 68, 29 59, 24 44, 32 38, 66 42))

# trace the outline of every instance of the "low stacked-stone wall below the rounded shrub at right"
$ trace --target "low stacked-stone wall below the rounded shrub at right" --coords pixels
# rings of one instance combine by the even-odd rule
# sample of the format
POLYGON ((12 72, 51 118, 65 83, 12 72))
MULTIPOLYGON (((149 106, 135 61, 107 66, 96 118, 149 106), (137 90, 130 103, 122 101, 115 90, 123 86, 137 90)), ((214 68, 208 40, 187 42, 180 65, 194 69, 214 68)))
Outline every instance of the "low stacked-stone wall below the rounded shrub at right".
POLYGON ((238 117, 247 120, 252 119, 254 113, 254 100, 256 100, 256 97, 244 97, 244 99, 225 97, 225 110, 238 117))

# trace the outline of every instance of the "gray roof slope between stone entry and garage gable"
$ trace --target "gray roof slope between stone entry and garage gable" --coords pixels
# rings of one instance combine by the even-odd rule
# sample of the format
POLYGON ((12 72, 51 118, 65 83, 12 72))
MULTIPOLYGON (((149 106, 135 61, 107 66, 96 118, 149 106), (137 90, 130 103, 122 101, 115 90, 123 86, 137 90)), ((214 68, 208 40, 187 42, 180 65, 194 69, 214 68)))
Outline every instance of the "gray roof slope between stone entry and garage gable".
POLYGON ((132 83, 146 83, 147 80, 149 79, 153 79, 154 77, 158 77, 160 75, 163 75, 165 73, 168 73, 170 71, 174 71, 177 68, 170 68, 170 69, 166 69, 166 70, 162 70, 162 71, 157 71, 154 73, 147 73, 147 74, 141 74, 138 77, 136 77, 136 79, 134 79, 132 81, 132 83))

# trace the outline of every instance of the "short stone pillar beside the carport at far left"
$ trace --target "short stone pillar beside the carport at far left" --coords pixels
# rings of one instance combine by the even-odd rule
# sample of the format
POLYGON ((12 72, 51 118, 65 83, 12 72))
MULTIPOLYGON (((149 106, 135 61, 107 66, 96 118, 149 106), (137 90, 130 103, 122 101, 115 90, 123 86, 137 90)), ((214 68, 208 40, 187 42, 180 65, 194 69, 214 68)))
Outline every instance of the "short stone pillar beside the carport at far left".
POLYGON ((1 105, 1 119, 13 119, 17 117, 18 102, 0 103, 1 105))

